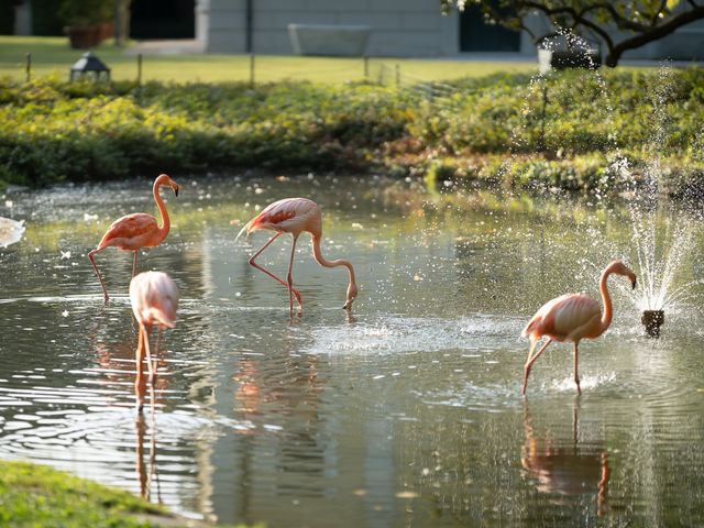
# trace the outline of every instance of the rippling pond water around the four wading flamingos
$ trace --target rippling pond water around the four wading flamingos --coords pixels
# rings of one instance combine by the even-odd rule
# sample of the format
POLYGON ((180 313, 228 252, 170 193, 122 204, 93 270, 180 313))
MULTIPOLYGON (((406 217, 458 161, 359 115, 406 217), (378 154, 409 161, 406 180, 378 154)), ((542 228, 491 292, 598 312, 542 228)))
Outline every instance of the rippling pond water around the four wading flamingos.
MULTIPOLYGON (((429 198, 381 179, 174 176, 172 231, 140 270, 168 272, 179 320, 161 339, 156 414, 134 411, 131 255, 87 252, 114 218, 153 212, 151 183, 11 195, 24 220, 0 249, 0 454, 148 495, 184 515, 268 526, 704 522, 702 290, 644 334, 627 280, 615 319, 581 346, 552 345, 520 395, 530 316, 562 293, 598 296, 634 258, 619 207, 466 193, 429 198), (235 234, 287 196, 323 208, 326 270, 308 237, 295 258, 301 317, 253 270, 267 240, 235 234)), ((2 201, 0 201, 1 206, 2 201)), ((6 201, 6 205, 8 201, 6 201)), ((663 220, 667 221, 667 220, 663 220)), ((700 224, 673 287, 704 276, 700 224)), ((290 241, 261 262, 285 275, 290 241)), ((156 338, 154 338, 156 339, 156 338)))

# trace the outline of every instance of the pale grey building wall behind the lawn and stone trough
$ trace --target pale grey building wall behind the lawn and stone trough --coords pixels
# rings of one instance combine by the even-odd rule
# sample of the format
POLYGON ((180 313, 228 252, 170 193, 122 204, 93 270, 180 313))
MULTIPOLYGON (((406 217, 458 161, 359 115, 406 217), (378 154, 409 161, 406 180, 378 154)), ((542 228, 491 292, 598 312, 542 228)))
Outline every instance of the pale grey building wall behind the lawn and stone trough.
MULTIPOLYGON (((208 53, 288 55, 295 53, 289 24, 367 25, 370 56, 449 57, 462 55, 462 41, 466 48, 468 35, 462 32, 468 30, 460 19, 458 12, 443 16, 438 0, 197 0, 196 37, 208 53)), ((548 25, 538 16, 527 23, 548 25)), ((510 54, 536 55, 528 34, 522 33, 517 42, 510 54)), ((698 21, 627 52, 624 58, 691 61, 703 56, 704 21, 698 21)))

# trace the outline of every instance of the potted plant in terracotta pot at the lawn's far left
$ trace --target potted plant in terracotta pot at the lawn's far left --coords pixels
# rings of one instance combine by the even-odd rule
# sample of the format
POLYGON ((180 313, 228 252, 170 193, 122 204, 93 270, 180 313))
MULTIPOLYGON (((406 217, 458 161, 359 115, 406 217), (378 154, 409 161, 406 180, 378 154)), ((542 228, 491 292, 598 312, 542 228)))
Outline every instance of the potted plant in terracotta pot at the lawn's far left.
POLYGON ((111 34, 113 0, 62 0, 58 15, 70 47, 95 47, 111 34))

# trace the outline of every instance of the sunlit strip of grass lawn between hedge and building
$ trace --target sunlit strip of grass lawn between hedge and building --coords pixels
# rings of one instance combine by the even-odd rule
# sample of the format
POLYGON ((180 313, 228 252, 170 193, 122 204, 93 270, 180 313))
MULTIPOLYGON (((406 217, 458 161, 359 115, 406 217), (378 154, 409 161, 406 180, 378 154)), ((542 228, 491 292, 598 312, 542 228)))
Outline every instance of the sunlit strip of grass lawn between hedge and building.
MULTIPOLYGON (((136 56, 129 48, 118 50, 106 41, 94 50, 112 69, 114 80, 136 78, 136 56)), ((32 54, 32 75, 58 75, 68 79, 70 66, 84 51, 72 50, 66 37, 2 36, 0 35, 0 77, 23 79, 28 53, 32 54)), ((409 58, 370 58, 370 78, 377 80, 380 73, 395 82, 396 65, 402 82, 443 80, 460 77, 481 77, 497 72, 535 72, 532 62, 439 61, 409 58)), ((145 55, 143 79, 161 81, 248 81, 249 55, 145 55)), ((299 57, 260 55, 255 57, 255 82, 285 79, 316 82, 346 82, 364 79, 364 61, 345 57, 299 57)))

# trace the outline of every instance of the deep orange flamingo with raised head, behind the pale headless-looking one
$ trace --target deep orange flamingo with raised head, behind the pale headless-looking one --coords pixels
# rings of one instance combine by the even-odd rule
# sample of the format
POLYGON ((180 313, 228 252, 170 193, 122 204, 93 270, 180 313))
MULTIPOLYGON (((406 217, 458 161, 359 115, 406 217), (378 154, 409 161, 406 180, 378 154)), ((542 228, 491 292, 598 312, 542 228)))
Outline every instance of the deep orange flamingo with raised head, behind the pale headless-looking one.
POLYGON ((156 207, 158 207, 158 211, 162 216, 161 228, 156 223, 156 219, 151 215, 146 215, 144 212, 127 215, 112 222, 106 234, 102 235, 102 240, 98 244, 98 248, 88 253, 88 258, 90 258, 92 268, 100 280, 100 286, 102 286, 102 294, 105 295, 106 302, 108 302, 110 297, 108 296, 106 283, 102 280, 98 266, 96 265, 95 254, 111 245, 119 248, 120 250, 133 251, 134 261, 132 262, 132 277, 134 277, 136 273, 136 255, 140 252, 140 248, 153 248, 158 245, 168 234, 170 221, 168 219, 168 212, 166 211, 164 200, 162 200, 162 197, 158 194, 158 188, 163 185, 170 187, 174 190, 174 194, 178 196, 178 185, 176 185, 169 176, 166 174, 157 176, 154 180, 153 193, 154 201, 156 201, 156 207))

